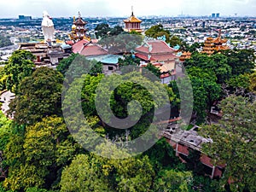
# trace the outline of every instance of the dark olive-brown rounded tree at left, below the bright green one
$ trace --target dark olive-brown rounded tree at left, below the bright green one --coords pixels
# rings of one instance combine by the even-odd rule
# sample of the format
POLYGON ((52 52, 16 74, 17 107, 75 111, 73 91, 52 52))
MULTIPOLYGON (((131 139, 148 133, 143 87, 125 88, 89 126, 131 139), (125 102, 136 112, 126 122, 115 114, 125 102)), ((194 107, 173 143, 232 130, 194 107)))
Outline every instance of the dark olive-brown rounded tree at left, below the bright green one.
POLYGON ((39 67, 20 82, 19 95, 10 103, 9 115, 19 124, 32 125, 52 114, 61 115, 63 76, 49 67, 39 67))

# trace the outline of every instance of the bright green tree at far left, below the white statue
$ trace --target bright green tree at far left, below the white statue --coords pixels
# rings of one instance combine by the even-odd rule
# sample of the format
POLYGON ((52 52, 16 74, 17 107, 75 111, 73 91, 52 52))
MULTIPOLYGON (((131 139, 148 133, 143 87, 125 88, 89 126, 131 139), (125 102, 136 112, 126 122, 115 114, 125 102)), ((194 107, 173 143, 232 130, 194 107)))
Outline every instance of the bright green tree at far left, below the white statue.
POLYGON ((18 93, 19 84, 22 79, 32 74, 35 64, 32 62, 36 57, 27 50, 15 50, 10 56, 9 62, 4 67, 8 76, 6 79, 6 88, 18 93))

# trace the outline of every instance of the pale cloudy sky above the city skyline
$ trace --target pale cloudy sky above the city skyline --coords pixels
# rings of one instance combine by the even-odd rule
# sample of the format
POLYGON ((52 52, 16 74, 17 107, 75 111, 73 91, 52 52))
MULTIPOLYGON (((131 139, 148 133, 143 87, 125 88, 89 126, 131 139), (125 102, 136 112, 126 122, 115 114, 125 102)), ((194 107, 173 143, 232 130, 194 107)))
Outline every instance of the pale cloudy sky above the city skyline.
POLYGON ((18 15, 69 17, 81 12, 83 17, 142 15, 249 15, 256 16, 256 0, 1 0, 0 18, 18 15))

